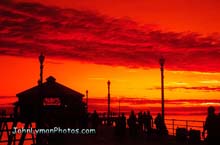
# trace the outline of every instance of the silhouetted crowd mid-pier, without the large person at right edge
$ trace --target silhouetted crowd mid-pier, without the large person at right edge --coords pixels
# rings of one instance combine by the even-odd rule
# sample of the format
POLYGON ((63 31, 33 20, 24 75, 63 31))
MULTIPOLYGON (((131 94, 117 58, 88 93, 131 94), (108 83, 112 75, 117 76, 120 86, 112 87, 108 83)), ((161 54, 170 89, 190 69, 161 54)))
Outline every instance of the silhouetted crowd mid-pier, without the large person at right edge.
MULTIPOLYGON (((96 128, 100 124, 99 115, 96 110, 91 114, 91 123, 92 127, 96 128)), ((135 137, 139 134, 147 134, 147 135, 167 135, 168 131, 166 129, 166 125, 160 113, 157 114, 156 118, 153 120, 153 117, 150 111, 147 112, 139 112, 137 117, 132 110, 129 118, 126 119, 124 113, 121 113, 115 121, 115 134, 118 137, 124 137, 126 134, 126 127, 128 127, 129 135, 131 137, 135 137), (156 128, 153 128, 153 124, 156 125, 156 128)))

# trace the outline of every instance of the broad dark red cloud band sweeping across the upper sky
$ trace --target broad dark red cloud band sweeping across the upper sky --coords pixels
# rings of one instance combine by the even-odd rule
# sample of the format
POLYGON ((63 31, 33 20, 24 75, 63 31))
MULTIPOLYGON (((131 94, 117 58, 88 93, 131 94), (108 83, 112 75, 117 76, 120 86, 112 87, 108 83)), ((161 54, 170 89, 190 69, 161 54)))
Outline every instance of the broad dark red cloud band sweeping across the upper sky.
POLYGON ((0 4, 0 55, 61 57, 126 67, 219 72, 220 37, 164 32, 91 11, 0 4))

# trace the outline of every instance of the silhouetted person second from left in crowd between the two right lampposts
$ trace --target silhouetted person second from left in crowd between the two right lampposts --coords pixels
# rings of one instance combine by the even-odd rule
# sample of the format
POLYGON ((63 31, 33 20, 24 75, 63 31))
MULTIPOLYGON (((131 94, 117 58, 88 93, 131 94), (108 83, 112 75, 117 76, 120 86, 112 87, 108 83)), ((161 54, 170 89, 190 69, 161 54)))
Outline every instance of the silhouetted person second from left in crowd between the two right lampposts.
POLYGON ((136 136, 137 135, 137 118, 134 114, 134 111, 131 111, 131 114, 128 118, 128 126, 129 126, 129 133, 131 136, 136 136))

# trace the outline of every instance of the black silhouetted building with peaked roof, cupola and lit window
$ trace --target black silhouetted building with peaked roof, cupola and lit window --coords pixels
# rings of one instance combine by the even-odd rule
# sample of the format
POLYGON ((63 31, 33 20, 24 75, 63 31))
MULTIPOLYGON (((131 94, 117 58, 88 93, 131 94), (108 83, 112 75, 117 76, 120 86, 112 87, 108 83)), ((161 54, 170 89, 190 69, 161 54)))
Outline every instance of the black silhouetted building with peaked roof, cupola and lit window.
MULTIPOLYGON (((83 94, 74 91, 60 83, 52 76, 41 85, 18 93, 18 117, 23 122, 35 122, 39 113, 39 104, 42 103, 42 116, 51 120, 78 120, 85 112, 83 94), (40 97, 41 96, 41 97, 40 97), (41 100, 42 98, 42 100, 41 100), (42 102, 41 102, 42 101, 42 102)), ((45 119, 44 118, 44 119, 45 119)))

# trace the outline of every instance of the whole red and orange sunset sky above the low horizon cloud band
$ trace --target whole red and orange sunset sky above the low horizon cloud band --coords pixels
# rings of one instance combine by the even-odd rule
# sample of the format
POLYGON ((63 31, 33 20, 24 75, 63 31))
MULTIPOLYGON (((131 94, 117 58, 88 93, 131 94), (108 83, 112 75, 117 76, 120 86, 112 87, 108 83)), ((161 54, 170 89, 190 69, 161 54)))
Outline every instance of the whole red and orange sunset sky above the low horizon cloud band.
POLYGON ((106 97, 110 80, 116 99, 160 99, 163 56, 166 99, 219 100, 219 7, 218 0, 3 0, 1 104, 37 85, 40 52, 44 80, 53 75, 90 98, 106 97))

